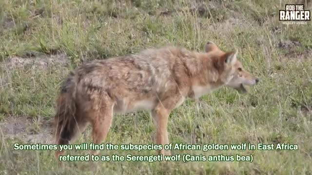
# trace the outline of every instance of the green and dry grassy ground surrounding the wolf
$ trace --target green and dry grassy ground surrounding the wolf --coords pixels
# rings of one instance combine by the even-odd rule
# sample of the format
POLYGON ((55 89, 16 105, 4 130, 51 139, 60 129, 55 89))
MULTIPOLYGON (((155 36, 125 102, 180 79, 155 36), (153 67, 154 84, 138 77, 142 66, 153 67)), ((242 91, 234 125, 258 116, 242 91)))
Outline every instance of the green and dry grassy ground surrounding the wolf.
MULTIPOLYGON (((306 25, 278 21, 278 10, 285 3, 294 1, 1 0, 0 175, 311 175, 312 25, 311 21, 306 25), (237 49, 244 67, 261 83, 249 94, 219 89, 204 96, 199 107, 187 101, 170 116, 171 142, 285 142, 298 144, 299 150, 241 152, 253 154, 252 163, 99 162, 97 168, 87 162, 68 162, 59 168, 52 151, 13 151, 14 142, 29 142, 24 137, 50 129, 45 123, 54 115, 59 84, 84 61, 169 44, 201 51, 208 40, 222 50, 237 49), (20 122, 11 123, 16 120, 20 122)), ((89 133, 75 143, 91 141, 89 133)), ((154 134, 148 113, 137 112, 115 116, 106 142, 146 144, 153 142, 154 134)), ((43 135, 37 141, 47 138, 43 135)), ((115 153, 126 154, 100 154, 115 153)), ((174 153, 234 155, 237 151, 174 153)))

